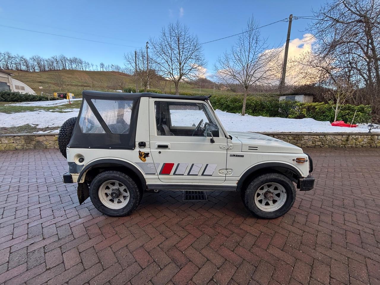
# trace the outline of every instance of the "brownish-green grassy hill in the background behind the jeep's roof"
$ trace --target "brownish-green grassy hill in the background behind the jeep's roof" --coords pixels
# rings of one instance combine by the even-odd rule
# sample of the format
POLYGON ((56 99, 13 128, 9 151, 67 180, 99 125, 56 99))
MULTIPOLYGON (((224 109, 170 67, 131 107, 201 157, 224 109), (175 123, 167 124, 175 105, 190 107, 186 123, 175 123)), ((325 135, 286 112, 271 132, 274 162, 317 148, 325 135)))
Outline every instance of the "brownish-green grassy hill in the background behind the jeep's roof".
MULTIPOLYGON (((125 87, 135 87, 135 78, 129 74, 116 71, 82 71, 82 70, 57 70, 57 71, 14 71, 14 79, 20 80, 32 88, 37 94, 41 91, 52 94, 54 92, 70 92, 77 98, 81 97, 82 90, 122 90, 125 87), (42 89, 39 87, 42 86, 42 89)), ((174 84, 170 81, 162 80, 161 86, 152 85, 152 89, 164 89, 165 91, 174 91, 174 84), (164 82, 165 81, 165 82, 164 82)), ((230 94, 234 93, 228 90, 217 90, 213 88, 211 83, 202 83, 202 93, 209 94, 230 94), (204 88, 210 86, 211 88, 204 88)), ((139 84, 139 88, 140 87, 139 84)), ((199 92, 199 87, 187 83, 180 83, 180 91, 183 92, 199 92)))

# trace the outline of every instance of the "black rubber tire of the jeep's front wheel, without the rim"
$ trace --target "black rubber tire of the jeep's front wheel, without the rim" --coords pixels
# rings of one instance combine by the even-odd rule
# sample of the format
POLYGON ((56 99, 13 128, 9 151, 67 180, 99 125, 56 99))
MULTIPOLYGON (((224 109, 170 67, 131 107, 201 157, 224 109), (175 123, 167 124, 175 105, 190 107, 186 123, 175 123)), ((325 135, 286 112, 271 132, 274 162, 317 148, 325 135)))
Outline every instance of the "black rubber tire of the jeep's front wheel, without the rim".
POLYGON ((288 177, 279 173, 266 173, 256 177, 250 182, 250 184, 245 189, 243 203, 244 206, 255 217, 272 219, 281 217, 286 212, 288 212, 290 208, 293 206, 295 200, 296 189, 294 188, 293 182, 291 182, 291 180, 288 177), (256 192, 259 190, 259 188, 261 188, 261 186, 267 183, 280 184, 286 191, 285 203, 279 209, 275 209, 272 212, 263 211, 255 203, 256 192))

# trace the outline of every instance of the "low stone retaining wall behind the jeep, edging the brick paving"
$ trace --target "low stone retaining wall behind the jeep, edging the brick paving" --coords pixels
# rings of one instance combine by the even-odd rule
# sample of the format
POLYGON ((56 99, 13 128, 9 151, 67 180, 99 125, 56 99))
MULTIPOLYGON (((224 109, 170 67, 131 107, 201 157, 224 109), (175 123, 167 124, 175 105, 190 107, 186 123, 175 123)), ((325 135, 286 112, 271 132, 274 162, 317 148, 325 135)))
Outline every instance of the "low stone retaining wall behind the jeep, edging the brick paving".
MULTIPOLYGON (((299 147, 380 147, 379 133, 263 133, 299 147)), ((0 150, 58 149, 58 134, 0 135, 0 150)))

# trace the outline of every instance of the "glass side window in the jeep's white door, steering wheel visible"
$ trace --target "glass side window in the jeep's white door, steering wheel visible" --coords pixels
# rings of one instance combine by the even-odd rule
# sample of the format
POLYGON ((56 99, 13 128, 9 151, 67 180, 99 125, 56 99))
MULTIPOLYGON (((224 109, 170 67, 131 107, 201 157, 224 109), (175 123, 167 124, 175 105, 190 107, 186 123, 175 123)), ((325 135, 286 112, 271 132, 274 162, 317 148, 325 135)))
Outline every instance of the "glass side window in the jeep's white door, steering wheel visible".
POLYGON ((203 136, 205 124, 215 124, 203 103, 156 101, 155 113, 161 136, 203 136))

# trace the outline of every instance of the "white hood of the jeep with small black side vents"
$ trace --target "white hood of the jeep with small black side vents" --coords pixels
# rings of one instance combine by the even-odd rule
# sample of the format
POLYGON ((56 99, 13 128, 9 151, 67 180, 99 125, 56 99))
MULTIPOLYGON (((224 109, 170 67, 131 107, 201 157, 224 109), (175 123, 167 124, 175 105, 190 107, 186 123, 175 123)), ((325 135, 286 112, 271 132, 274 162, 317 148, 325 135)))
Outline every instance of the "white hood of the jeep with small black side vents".
POLYGON ((280 152, 287 154, 302 154, 303 150, 289 144, 288 142, 275 139, 270 136, 260 135, 256 133, 245 133, 242 131, 228 131, 234 140, 241 142, 242 152, 280 152))

